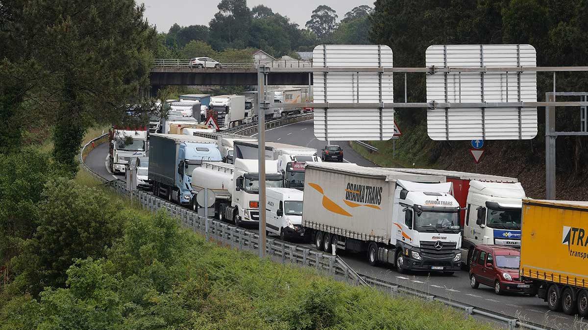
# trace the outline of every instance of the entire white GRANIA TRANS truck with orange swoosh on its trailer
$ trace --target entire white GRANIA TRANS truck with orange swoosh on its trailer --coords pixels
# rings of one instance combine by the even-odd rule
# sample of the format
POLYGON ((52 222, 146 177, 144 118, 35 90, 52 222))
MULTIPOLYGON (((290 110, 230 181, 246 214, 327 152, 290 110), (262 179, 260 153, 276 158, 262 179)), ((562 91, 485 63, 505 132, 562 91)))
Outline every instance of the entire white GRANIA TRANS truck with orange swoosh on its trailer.
POLYGON ((443 176, 306 163, 303 227, 316 248, 366 252, 399 272, 461 269, 459 204, 443 176))

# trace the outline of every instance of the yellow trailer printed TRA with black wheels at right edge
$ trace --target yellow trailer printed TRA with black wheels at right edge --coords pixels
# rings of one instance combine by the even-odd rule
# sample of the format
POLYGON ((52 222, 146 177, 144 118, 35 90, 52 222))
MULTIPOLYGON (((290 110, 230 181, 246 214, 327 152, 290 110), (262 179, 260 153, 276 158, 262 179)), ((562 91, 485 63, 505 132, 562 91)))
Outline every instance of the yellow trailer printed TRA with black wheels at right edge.
POLYGON ((588 317, 588 202, 523 200, 520 275, 552 311, 588 317))

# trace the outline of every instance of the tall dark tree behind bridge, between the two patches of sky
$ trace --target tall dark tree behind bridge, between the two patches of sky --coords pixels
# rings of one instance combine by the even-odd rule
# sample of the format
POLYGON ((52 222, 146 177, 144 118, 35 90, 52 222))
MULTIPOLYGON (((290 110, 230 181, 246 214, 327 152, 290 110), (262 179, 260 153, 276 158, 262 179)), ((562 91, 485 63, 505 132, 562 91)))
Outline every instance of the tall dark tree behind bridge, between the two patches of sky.
POLYGON ((246 0, 222 0, 209 23, 212 48, 245 48, 249 41, 251 10, 246 0))

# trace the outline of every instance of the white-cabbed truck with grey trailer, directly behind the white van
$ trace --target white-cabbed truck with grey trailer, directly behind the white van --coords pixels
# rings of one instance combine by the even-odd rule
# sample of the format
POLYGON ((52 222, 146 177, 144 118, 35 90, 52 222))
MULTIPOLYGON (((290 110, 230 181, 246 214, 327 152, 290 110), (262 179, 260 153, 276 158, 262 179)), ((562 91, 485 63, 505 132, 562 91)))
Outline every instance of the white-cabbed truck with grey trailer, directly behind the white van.
MULTIPOLYGON (((257 141, 237 141, 234 146, 235 158, 258 159, 257 141)), ((284 186, 300 190, 304 189, 304 164, 307 161, 321 161, 316 156, 316 149, 276 142, 266 142, 265 159, 278 160, 278 169, 284 176, 284 186)))

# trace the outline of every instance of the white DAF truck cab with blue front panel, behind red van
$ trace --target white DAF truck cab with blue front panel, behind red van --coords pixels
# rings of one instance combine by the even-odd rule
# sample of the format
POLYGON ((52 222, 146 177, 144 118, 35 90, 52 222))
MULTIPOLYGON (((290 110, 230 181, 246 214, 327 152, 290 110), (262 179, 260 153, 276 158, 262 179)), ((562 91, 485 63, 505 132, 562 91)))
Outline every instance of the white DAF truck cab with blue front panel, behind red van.
POLYGON ((463 226, 463 254, 477 244, 520 247, 521 207, 525 192, 520 183, 470 181, 463 226))

